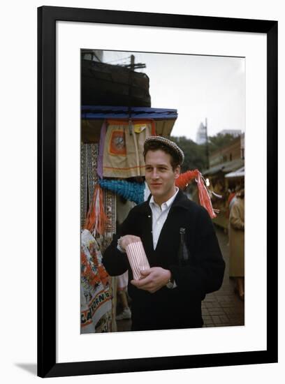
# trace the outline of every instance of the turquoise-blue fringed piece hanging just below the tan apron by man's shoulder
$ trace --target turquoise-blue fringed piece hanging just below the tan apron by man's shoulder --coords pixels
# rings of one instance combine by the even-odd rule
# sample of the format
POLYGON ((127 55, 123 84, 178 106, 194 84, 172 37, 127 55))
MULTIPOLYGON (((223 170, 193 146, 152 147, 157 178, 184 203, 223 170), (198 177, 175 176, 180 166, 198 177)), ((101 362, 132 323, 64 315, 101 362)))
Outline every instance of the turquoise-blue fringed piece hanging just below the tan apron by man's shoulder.
POLYGON ((126 200, 131 200, 140 204, 143 202, 145 193, 145 183, 127 182, 126 180, 107 180, 98 179, 98 183, 103 189, 109 189, 122 196, 126 200))

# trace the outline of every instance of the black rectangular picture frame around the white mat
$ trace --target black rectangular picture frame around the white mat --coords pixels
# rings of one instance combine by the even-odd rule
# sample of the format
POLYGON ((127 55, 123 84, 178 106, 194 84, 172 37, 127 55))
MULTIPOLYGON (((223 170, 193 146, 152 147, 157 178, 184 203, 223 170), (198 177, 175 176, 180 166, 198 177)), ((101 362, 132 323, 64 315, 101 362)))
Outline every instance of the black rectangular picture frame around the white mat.
POLYGON ((38 376, 270 362, 277 362, 277 21, 51 6, 38 8, 38 376), (56 22, 61 20, 266 34, 267 196, 268 205, 270 203, 267 212, 267 244, 270 244, 267 297, 270 300, 267 302, 266 350, 56 363, 56 22))

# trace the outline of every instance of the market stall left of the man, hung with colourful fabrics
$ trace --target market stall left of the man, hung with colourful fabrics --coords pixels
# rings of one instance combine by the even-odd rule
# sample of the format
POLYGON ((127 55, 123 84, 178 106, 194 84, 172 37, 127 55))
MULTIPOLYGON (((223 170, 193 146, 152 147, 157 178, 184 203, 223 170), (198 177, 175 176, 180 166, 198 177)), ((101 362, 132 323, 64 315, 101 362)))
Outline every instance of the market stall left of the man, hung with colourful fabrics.
POLYGON ((168 137, 176 119, 177 110, 82 106, 82 333, 117 330, 117 281, 108 276, 101 262, 102 253, 122 216, 122 212, 118 212, 117 197, 135 204, 145 200, 143 143, 149 135, 168 137))

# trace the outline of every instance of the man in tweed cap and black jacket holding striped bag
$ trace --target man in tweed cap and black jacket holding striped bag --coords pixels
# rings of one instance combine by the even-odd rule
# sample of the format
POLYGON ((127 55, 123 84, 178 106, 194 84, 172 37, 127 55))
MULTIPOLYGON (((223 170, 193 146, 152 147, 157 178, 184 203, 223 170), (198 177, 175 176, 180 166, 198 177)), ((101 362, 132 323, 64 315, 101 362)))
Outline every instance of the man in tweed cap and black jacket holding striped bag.
POLYGON ((174 142, 151 136, 145 140, 144 156, 151 195, 131 209, 103 264, 112 276, 129 270, 132 330, 202 327, 201 301, 220 288, 225 267, 212 221, 206 209, 175 186, 184 154, 174 142), (186 230, 189 253, 184 265, 178 260, 180 228, 186 230), (139 239, 150 269, 135 281, 125 249, 139 239))

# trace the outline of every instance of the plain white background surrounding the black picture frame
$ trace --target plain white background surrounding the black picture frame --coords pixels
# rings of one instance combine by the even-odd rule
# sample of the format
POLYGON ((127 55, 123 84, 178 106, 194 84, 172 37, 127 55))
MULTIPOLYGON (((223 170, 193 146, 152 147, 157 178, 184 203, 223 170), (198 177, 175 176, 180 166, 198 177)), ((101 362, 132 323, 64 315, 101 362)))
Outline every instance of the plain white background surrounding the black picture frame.
MULTIPOLYGON (((36 7, 74 6, 279 20, 279 126, 284 127, 284 23, 282 1, 14 1, 1 8, 1 382, 31 383, 36 375, 36 7), (3 296, 3 298, 2 298, 3 296)), ((284 131, 279 129, 279 163, 284 131)), ((283 153, 282 153, 283 152, 283 153)), ((282 161, 283 160, 283 161, 282 161)), ((258 161, 256 161, 258 163, 258 161)), ((280 165, 280 168, 281 165, 280 165)), ((282 174, 279 191, 284 189, 282 174)), ((283 221, 284 205, 279 207, 283 221)), ((280 237, 282 234, 280 228, 280 237)), ((284 255, 282 255, 284 256, 284 255)), ((280 257, 279 271, 284 270, 280 257)), ((258 274, 258 266, 256 266, 258 274)), ((284 324, 284 279, 280 274, 279 323, 284 324)), ((133 374, 54 378, 71 383, 258 383, 284 381, 284 329, 279 327, 279 364, 217 367, 133 374)))

